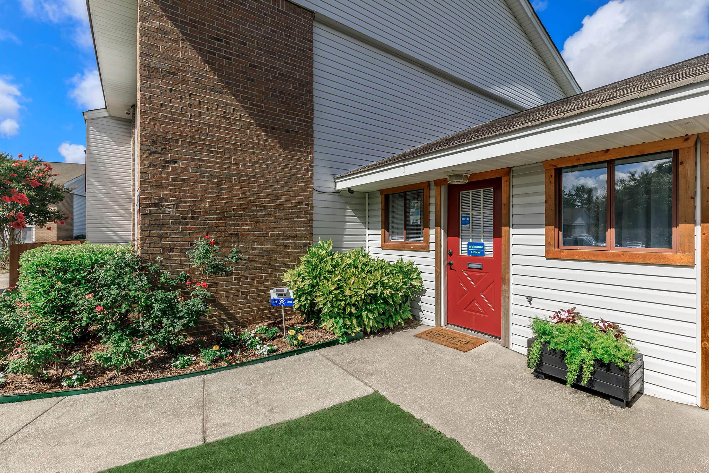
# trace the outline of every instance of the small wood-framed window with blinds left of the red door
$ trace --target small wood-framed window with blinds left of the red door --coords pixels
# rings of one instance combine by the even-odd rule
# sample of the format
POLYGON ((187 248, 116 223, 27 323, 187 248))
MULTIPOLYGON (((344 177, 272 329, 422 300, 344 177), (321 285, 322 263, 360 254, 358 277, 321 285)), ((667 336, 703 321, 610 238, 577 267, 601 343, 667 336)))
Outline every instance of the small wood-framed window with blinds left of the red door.
POLYGON ((381 247, 428 251, 428 182, 381 192, 381 247))

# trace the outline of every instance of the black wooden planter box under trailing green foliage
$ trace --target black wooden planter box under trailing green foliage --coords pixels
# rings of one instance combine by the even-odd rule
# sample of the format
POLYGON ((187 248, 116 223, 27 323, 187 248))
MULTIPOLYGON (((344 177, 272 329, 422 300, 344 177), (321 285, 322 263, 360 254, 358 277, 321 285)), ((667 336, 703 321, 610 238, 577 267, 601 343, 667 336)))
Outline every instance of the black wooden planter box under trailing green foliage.
MULTIPOLYGON (((535 340, 537 339, 534 337, 527 339, 527 349, 535 343, 535 340)), ((549 345, 542 343, 542 356, 534 370, 535 377, 544 379, 545 376, 551 376, 566 382, 566 364, 563 357, 563 352, 549 351, 549 345)), ((625 407, 627 401, 630 401, 644 387, 643 365, 642 353, 637 353, 635 362, 628 365, 625 370, 615 366, 615 363, 603 365, 597 361, 593 375, 584 387, 610 396, 610 404, 625 407)))

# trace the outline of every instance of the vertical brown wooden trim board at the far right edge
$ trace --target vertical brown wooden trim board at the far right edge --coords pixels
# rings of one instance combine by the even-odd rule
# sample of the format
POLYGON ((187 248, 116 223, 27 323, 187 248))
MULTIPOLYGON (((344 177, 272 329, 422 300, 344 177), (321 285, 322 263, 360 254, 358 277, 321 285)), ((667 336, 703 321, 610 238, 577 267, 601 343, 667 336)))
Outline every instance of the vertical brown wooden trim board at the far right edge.
POLYGON ((709 409, 709 133, 700 133, 699 405, 709 409))

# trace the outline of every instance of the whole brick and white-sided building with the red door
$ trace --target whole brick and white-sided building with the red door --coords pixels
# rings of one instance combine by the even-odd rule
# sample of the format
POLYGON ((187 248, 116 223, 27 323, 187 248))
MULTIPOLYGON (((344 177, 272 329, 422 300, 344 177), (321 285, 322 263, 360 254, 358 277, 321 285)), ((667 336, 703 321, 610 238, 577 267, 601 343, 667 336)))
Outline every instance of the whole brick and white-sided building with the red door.
POLYGON ((526 352, 531 316, 577 306, 625 326, 647 394, 709 406, 706 57, 579 94, 527 0, 88 5, 106 99, 85 114, 89 240, 137 240, 174 269, 206 233, 240 246, 215 318, 242 323, 276 315, 268 289, 318 238, 405 257, 423 323, 526 352), (571 212, 559 173, 588 187, 571 212), (652 198, 642 216, 632 196, 652 198), (584 247, 557 235, 567 217, 584 247))

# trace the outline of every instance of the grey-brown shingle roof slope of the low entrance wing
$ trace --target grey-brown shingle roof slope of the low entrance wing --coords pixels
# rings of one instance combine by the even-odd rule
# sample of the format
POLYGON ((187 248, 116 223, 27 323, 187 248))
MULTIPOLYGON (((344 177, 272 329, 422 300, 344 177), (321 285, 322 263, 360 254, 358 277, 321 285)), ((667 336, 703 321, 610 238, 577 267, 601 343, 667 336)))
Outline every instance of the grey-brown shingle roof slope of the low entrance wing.
POLYGON ((690 84, 709 80, 709 54, 693 57, 692 59, 677 62, 676 64, 661 67, 654 71, 645 72, 635 77, 629 77, 612 84, 576 94, 564 99, 549 102, 535 108, 503 116, 480 125, 472 126, 452 135, 432 140, 415 148, 400 152, 396 155, 385 157, 344 172, 337 177, 346 177, 362 171, 384 167, 409 160, 413 157, 428 155, 432 152, 446 150, 457 146, 467 145, 484 138, 509 133, 547 123, 560 118, 579 115, 586 111, 595 110, 625 101, 640 99, 642 97, 658 94, 659 92, 677 89, 690 84))

